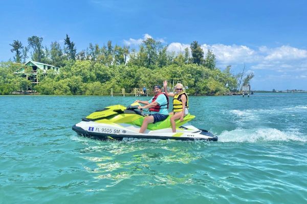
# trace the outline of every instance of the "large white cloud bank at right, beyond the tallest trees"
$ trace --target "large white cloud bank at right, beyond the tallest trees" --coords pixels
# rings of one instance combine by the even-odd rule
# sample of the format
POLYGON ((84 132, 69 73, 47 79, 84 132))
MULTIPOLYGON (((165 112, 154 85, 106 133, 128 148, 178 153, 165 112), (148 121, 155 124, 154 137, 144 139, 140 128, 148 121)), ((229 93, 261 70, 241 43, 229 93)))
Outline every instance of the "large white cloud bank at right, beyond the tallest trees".
POLYGON ((216 57, 217 65, 242 65, 249 63, 253 70, 273 70, 276 72, 297 72, 307 70, 307 50, 288 45, 269 48, 260 46, 252 49, 245 45, 203 44, 204 53, 211 49, 216 57))

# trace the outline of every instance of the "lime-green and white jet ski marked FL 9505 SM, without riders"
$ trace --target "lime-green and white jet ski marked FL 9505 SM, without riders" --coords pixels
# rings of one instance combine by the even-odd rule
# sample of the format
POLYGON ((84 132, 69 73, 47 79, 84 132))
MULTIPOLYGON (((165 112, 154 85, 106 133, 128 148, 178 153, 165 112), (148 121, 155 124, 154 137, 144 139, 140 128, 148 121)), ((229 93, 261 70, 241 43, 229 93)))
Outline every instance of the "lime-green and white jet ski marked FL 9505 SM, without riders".
POLYGON ((148 124, 147 130, 139 133, 146 114, 138 109, 139 103, 128 107, 122 105, 109 106, 97 110, 82 118, 72 129, 78 135, 101 140, 135 140, 135 139, 172 139, 172 140, 208 140, 217 141, 217 136, 198 129, 187 122, 195 118, 188 114, 183 121, 176 121, 176 133, 172 133, 170 116, 163 121, 148 124))

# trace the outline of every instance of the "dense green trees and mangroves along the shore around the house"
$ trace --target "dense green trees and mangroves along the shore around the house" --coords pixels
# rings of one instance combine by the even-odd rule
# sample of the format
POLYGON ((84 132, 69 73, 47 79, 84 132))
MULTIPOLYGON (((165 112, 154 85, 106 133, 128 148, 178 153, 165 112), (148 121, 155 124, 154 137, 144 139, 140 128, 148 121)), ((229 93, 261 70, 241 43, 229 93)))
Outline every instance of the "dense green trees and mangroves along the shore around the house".
MULTIPOLYGON (((164 80, 181 82, 193 95, 220 95, 237 91, 253 78, 253 74, 231 73, 231 66, 223 71, 216 67, 215 55, 208 49, 204 54, 197 41, 190 50, 168 52, 167 45, 152 38, 145 39, 139 49, 129 46, 90 43, 86 49, 76 52, 75 43, 68 35, 64 46, 52 42, 50 47, 42 45, 41 37, 28 38, 28 45, 14 40, 11 52, 13 62, 0 64, 0 94, 32 89, 40 94, 86 94, 108 95, 111 88, 120 92, 122 88, 132 91, 135 87, 152 87, 164 80), (30 57, 33 61, 60 67, 59 73, 38 70, 39 84, 33 85, 22 74, 14 74, 30 57), (243 83, 241 83, 243 82, 243 83)), ((25 67, 26 70, 29 67, 25 67)))

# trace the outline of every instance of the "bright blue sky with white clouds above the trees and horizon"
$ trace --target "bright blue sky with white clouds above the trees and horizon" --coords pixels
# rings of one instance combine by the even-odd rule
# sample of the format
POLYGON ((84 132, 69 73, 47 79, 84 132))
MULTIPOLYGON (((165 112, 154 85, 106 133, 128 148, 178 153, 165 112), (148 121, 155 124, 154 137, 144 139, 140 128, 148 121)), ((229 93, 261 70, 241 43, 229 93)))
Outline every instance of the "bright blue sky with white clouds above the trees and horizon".
POLYGON ((138 47, 152 37, 180 52, 198 41, 217 66, 255 74, 254 90, 307 90, 307 1, 4 1, 0 61, 13 40, 50 46, 68 34, 77 52, 90 42, 138 47))

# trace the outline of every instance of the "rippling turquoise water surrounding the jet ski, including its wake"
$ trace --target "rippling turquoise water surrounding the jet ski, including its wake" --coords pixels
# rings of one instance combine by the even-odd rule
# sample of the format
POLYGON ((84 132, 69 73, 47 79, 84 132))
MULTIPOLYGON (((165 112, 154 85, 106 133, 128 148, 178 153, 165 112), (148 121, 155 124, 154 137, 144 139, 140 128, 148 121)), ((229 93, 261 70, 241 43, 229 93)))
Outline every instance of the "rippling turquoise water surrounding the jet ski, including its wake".
POLYGON ((135 99, 0 96, 0 203, 307 203, 307 94, 191 96, 191 124, 218 142, 71 130, 135 99))

